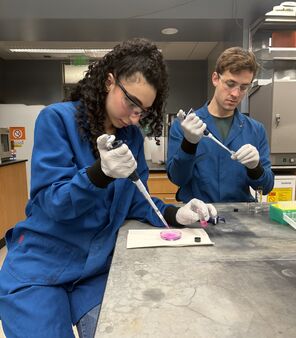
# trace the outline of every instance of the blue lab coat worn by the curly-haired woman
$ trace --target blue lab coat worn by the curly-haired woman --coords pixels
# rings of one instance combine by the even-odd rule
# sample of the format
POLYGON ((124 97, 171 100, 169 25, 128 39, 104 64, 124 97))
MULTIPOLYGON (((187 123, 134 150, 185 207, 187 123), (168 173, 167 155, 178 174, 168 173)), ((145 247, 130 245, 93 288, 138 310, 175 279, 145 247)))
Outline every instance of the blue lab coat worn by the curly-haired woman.
MULTIPOLYGON (((14 327, 10 332, 8 325, 9 337, 72 337, 71 322, 102 301, 124 221, 162 226, 129 179, 106 188, 89 180, 86 169, 95 158, 79 136, 76 108, 73 102, 53 104, 36 120, 27 218, 7 233, 8 255, 0 272, 0 317, 4 327, 14 327), (33 324, 39 314, 40 322, 33 324), (64 321, 60 327, 54 325, 57 318, 64 321)), ((133 152, 146 184, 140 130, 118 129, 116 138, 133 152)), ((166 205, 154 202, 163 213, 166 205)))

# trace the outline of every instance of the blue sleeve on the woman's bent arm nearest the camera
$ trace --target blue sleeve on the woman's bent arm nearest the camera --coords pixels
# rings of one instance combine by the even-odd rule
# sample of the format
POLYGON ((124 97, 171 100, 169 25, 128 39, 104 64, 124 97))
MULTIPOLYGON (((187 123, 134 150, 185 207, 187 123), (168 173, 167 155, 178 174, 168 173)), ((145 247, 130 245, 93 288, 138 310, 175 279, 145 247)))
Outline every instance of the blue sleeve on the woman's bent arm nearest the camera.
MULTIPOLYGON (((75 123, 73 114, 69 114, 69 125, 70 119, 75 123)), ((89 144, 71 139, 73 131, 66 130, 71 127, 64 120, 55 106, 41 111, 35 125, 32 156, 31 204, 55 221, 90 212, 98 207, 98 201, 103 203, 106 193, 90 182, 86 167, 78 170, 78 153, 91 154, 89 144)), ((94 162, 92 156, 88 160, 89 165, 94 162)))

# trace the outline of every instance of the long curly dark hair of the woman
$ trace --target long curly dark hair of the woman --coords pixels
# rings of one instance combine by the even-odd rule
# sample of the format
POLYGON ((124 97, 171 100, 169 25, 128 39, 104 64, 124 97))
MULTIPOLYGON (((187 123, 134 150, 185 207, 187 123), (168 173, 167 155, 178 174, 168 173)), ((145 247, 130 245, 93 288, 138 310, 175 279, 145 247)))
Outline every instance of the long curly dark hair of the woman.
POLYGON ((141 73, 157 94, 154 112, 140 120, 147 136, 161 136, 163 115, 168 97, 168 74, 161 52, 156 45, 143 38, 127 40, 114 47, 102 59, 89 65, 84 78, 70 94, 71 101, 80 101, 76 120, 82 137, 88 140, 97 158, 97 137, 104 134, 107 97, 106 80, 112 73, 118 80, 141 73))

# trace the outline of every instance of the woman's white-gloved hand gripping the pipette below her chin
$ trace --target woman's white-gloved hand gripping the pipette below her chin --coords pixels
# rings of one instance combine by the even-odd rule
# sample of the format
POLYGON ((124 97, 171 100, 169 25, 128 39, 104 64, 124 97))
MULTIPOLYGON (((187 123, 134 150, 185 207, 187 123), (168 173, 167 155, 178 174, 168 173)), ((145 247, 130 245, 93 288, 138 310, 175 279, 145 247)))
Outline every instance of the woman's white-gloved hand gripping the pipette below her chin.
POLYGON ((137 162, 126 144, 122 144, 115 149, 110 149, 110 144, 114 140, 114 135, 110 136, 107 134, 103 134, 97 138, 101 168, 104 174, 109 177, 126 178, 136 170, 137 162))

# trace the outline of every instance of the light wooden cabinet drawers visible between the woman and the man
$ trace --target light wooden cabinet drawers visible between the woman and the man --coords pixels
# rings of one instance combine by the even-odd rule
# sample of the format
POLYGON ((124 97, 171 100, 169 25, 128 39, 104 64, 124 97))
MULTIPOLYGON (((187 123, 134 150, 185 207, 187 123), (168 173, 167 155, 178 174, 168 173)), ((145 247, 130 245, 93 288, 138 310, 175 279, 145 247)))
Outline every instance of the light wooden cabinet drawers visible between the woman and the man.
POLYGON ((166 173, 150 173, 148 188, 151 196, 158 197, 165 203, 179 203, 175 198, 178 187, 168 179, 166 173))

